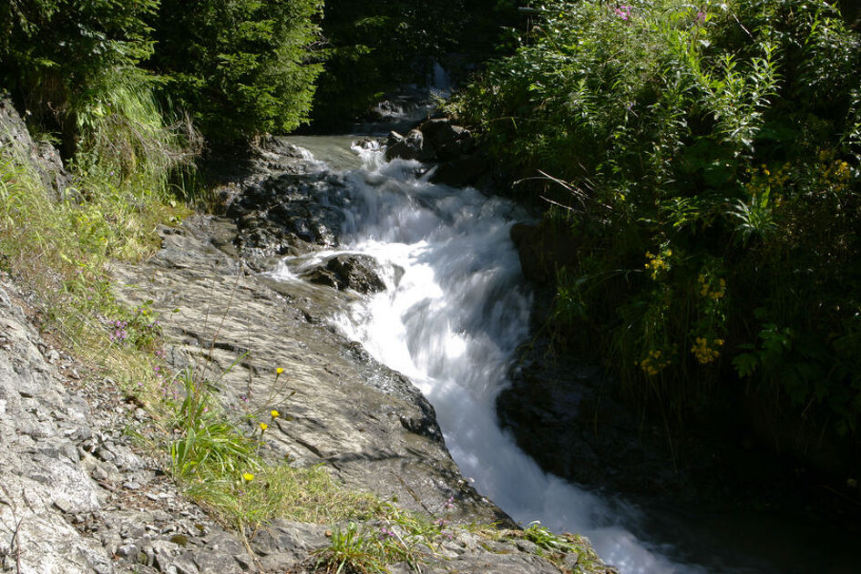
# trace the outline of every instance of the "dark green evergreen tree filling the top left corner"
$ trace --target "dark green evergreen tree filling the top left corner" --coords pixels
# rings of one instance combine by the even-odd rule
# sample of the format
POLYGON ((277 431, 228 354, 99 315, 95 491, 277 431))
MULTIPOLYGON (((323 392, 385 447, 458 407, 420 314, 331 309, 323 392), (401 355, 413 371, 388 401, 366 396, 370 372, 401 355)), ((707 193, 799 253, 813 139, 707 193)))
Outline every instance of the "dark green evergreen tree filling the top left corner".
MULTIPOLYGON (((77 149, 78 114, 109 97, 117 75, 152 52, 147 20, 159 0, 20 0, 0 5, 0 83, 77 149)), ((86 113, 86 112, 85 112, 86 113)))

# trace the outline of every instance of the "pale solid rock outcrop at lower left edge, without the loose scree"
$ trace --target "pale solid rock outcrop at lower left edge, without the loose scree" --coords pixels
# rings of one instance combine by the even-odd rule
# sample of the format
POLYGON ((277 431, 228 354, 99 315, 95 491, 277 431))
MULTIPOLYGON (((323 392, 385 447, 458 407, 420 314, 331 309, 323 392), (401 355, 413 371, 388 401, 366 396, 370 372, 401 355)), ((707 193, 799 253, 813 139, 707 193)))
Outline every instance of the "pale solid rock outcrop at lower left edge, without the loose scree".
POLYGON ((97 485, 73 436, 86 435, 87 403, 56 369, 24 313, 0 285, 0 556, 4 569, 112 572, 108 553, 69 519, 97 511, 97 485))

